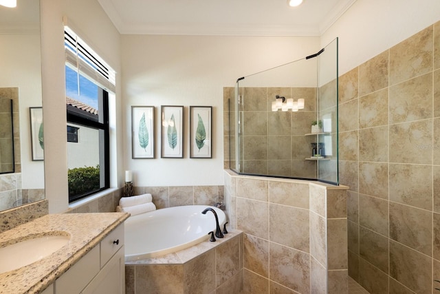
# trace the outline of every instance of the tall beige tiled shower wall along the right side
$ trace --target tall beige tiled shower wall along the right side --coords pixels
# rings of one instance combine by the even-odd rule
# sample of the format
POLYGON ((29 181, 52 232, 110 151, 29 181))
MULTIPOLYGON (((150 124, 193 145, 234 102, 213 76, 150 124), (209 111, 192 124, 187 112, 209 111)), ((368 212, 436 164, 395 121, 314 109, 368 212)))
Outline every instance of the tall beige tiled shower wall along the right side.
POLYGON ((349 275, 371 293, 437 293, 440 23, 339 81, 349 275))

